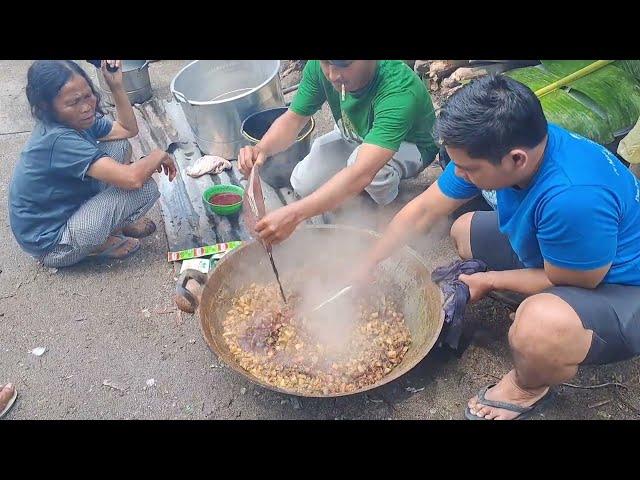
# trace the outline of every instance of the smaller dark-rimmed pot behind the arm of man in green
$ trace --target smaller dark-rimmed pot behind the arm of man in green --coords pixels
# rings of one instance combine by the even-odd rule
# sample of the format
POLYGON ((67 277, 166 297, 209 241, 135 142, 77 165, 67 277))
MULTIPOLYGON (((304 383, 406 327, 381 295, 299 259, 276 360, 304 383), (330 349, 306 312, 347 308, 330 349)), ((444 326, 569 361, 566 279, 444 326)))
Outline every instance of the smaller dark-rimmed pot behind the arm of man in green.
MULTIPOLYGON (((276 119, 287 111, 287 107, 276 107, 248 116, 242 122, 242 135, 257 144, 276 119)), ((285 151, 272 155, 260 169, 260 178, 273 188, 290 186, 291 173, 295 166, 311 150, 311 132, 316 124, 311 118, 298 134, 296 141, 285 151)))

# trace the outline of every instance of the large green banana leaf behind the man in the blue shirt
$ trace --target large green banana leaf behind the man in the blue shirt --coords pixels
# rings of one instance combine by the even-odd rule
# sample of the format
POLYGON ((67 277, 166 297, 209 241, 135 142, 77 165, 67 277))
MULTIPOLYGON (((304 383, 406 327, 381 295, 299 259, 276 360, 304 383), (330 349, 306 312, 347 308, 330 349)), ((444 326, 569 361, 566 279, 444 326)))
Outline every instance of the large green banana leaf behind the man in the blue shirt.
MULTIPOLYGON (((550 122, 609 144, 640 117, 640 61, 617 61, 575 80, 540 99, 550 122)), ((542 60, 541 65, 506 72, 532 90, 549 85, 593 63, 593 60, 542 60)))

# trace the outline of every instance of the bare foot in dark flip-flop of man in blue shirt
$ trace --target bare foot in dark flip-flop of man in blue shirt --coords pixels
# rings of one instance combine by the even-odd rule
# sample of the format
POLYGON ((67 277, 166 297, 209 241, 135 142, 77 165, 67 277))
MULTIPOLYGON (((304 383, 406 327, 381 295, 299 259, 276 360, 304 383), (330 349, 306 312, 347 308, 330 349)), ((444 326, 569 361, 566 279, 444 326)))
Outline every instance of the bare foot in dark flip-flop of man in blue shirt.
MULTIPOLYGON (((549 387, 532 391, 522 389, 515 381, 515 373, 515 370, 511 370, 502 377, 502 380, 487 390, 484 398, 495 402, 513 403, 519 407, 530 407, 549 391, 549 387)), ((513 420, 519 416, 518 412, 482 405, 478 402, 477 396, 469 400, 468 406, 473 415, 487 420, 513 420)))

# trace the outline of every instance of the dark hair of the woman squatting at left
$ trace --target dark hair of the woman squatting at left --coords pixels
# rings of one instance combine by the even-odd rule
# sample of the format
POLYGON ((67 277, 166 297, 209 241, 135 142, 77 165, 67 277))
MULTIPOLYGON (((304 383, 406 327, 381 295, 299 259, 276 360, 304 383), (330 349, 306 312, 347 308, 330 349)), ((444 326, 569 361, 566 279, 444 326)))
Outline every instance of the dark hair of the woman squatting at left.
POLYGON ((89 75, 71 60, 36 60, 27 72, 27 99, 31 106, 31 114, 45 123, 54 123, 56 115, 53 100, 60 89, 74 75, 80 75, 87 81, 89 88, 96 96, 96 113, 104 115, 100 107, 100 93, 93 86, 89 75))

